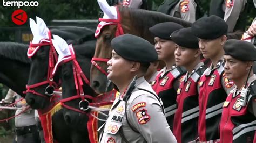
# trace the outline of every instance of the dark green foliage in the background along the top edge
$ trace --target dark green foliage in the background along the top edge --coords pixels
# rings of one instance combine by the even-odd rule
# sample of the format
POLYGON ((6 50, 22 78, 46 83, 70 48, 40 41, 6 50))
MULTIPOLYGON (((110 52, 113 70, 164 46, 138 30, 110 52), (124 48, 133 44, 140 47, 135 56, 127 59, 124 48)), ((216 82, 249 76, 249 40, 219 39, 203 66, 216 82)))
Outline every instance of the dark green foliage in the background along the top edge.
MULTIPOLYGON (((1 0, 2 1, 2 0, 1 0)), ((7 1, 7 0, 6 0, 7 1)), ((30 1, 30 0, 29 0, 30 1)), ((26 11, 28 18, 35 19, 36 16, 44 19, 46 24, 49 24, 52 19, 98 19, 100 9, 96 0, 37 0, 39 5, 37 7, 21 7, 20 9, 26 11)), ((147 0, 147 4, 150 6, 150 10, 157 10, 158 6, 163 3, 164 0, 147 0)), ((199 5, 204 13, 208 13, 210 1, 198 0, 199 5)), ((248 1, 251 2, 251 1, 248 1)), ((253 4, 249 4, 253 5, 253 4)), ((3 30, 2 27, 21 27, 15 25, 11 20, 12 12, 17 10, 17 7, 4 7, 0 5, 0 41, 14 41, 14 33, 3 30)), ((256 9, 251 6, 249 9, 251 12, 248 15, 247 25, 250 25, 255 17, 256 9)), ((29 20, 22 25, 29 26, 29 20)))

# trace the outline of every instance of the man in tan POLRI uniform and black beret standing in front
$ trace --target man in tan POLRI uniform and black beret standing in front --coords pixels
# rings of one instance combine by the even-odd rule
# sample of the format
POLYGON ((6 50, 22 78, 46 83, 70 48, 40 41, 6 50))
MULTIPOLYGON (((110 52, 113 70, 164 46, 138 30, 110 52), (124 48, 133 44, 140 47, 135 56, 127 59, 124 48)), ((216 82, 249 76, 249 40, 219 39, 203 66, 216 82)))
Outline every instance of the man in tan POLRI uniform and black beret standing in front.
POLYGON ((160 99, 144 79, 150 62, 158 58, 154 46, 131 34, 114 38, 111 46, 107 78, 120 94, 99 128, 99 142, 176 142, 160 99))

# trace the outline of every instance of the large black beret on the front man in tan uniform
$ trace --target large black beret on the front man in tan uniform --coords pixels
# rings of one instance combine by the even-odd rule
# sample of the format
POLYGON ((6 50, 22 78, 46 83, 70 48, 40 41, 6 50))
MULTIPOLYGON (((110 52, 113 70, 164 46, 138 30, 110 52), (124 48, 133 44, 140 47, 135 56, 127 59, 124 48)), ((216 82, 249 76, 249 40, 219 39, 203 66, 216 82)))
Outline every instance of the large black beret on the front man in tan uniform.
POLYGON ((153 62, 158 59, 154 45, 136 35, 124 34, 113 38, 111 46, 118 55, 129 61, 153 62))

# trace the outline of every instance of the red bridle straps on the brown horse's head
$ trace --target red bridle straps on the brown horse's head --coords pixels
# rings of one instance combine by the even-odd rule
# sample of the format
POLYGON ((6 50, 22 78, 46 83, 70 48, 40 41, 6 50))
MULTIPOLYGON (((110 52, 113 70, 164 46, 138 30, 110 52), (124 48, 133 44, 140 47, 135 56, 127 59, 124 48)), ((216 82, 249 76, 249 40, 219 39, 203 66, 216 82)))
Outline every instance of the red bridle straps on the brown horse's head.
MULTIPOLYGON (((121 24, 121 15, 120 15, 120 12, 118 10, 118 7, 116 6, 116 9, 117 9, 117 19, 104 19, 104 18, 99 18, 99 21, 100 22, 111 22, 111 23, 114 23, 117 25, 117 30, 116 30, 116 37, 118 37, 119 35, 123 35, 124 34, 124 31, 123 31, 123 28, 122 28, 122 24, 121 24)), ((108 75, 107 72, 102 68, 100 67, 96 61, 100 61, 100 62, 107 62, 109 61, 110 59, 106 59, 106 58, 95 58, 93 57, 92 60, 91 60, 91 63, 93 66, 95 66, 100 72, 102 72, 104 75, 108 75)))

